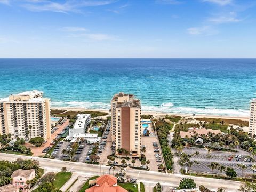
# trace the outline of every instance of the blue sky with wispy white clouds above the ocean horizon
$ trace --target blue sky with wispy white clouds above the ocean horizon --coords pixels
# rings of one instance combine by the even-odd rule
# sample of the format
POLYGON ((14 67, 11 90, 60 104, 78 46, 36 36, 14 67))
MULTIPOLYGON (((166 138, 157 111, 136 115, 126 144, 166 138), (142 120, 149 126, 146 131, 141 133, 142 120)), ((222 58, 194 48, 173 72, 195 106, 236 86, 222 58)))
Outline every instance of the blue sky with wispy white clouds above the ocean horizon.
POLYGON ((256 58, 256 0, 0 0, 1 58, 256 58))

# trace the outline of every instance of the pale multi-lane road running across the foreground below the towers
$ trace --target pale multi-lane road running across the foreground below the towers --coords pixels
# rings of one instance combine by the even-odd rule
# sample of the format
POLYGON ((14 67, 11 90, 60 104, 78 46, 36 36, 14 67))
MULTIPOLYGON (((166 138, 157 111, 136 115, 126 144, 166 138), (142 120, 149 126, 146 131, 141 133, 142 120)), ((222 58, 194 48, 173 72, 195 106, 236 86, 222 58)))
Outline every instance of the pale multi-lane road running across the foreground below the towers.
MULTIPOLYGON (((47 158, 39 158, 39 157, 28 157, 22 155, 14 155, 14 154, 4 154, 1 153, 0 160, 14 161, 16 158, 22 159, 36 159, 39 161, 40 166, 46 170, 51 171, 60 171, 62 167, 67 167, 68 171, 75 172, 77 174, 82 175, 99 175, 100 166, 99 165, 91 165, 85 164, 81 162, 66 162, 58 159, 47 159, 47 158)), ((112 172, 112 171, 111 171, 112 172)), ((110 172, 110 173, 111 173, 110 172)), ((131 178, 137 178, 140 181, 145 182, 160 182, 162 185, 169 185, 172 187, 178 186, 179 182, 182 178, 190 178, 189 175, 180 175, 180 174, 166 174, 159 173, 156 171, 143 171, 143 170, 126 170, 127 175, 131 178)), ((107 174, 107 169, 105 169, 105 174, 107 174)), ((240 182, 237 181, 229 181, 229 180, 219 180, 212 178, 202 178, 202 177, 191 177, 197 183, 197 186, 203 185, 212 190, 216 190, 218 187, 227 187, 227 191, 237 191, 240 182)))

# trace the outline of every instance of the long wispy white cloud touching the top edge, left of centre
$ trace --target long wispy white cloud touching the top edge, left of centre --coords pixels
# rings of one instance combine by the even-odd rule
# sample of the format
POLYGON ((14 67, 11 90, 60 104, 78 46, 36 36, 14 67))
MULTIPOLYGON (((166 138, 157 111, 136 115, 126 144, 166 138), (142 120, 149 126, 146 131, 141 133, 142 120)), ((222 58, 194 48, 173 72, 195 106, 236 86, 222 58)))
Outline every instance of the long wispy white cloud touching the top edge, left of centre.
POLYGON ((51 12, 60 12, 60 13, 68 13, 68 12, 81 12, 82 7, 89 6, 102 6, 113 3, 113 0, 101 0, 101 1, 93 1, 93 0, 67 0, 64 3, 57 3, 53 1, 29 1, 29 4, 23 5, 26 9, 34 12, 42 12, 42 11, 51 11, 51 12))

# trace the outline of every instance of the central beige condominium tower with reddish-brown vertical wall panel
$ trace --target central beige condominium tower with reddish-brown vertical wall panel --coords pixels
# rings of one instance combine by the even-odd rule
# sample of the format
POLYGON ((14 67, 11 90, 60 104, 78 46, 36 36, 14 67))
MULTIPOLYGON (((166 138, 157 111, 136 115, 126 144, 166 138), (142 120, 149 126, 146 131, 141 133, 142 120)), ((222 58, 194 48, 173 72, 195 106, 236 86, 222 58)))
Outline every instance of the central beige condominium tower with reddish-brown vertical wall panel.
POLYGON ((133 94, 115 94, 111 100, 111 137, 116 149, 123 148, 130 155, 140 155, 140 100, 133 94))

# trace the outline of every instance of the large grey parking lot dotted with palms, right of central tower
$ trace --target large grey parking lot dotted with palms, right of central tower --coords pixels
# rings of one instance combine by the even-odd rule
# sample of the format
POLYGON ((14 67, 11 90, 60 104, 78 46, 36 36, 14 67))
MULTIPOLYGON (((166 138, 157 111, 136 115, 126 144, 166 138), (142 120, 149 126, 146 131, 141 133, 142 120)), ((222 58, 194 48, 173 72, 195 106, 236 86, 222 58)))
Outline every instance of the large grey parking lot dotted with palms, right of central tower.
MULTIPOLYGON (((211 151, 210 158, 206 158, 206 156, 208 155, 208 151, 204 148, 185 147, 183 149, 183 152, 185 152, 188 155, 194 154, 195 151, 198 151, 200 154, 197 157, 195 155, 190 157, 190 160, 193 162, 193 165, 191 166, 191 170, 193 172, 212 173, 212 170, 208 167, 208 165, 211 164, 211 162, 217 162, 219 164, 224 165, 225 167, 232 167, 237 172, 238 176, 240 176, 243 171, 239 166, 241 165, 241 163, 247 166, 247 168, 244 169, 243 171, 243 175, 252 174, 253 172, 251 169, 251 165, 253 165, 255 162, 249 162, 245 157, 247 155, 250 155, 250 153, 247 153, 246 151, 242 151, 241 149, 238 150, 238 153, 211 151), (241 158, 236 158, 240 154, 241 154, 241 158), (239 159, 239 161, 237 159, 239 159), (199 164, 195 163, 194 162, 195 160, 199 164)), ((217 170, 214 170, 213 173, 220 174, 220 172, 217 170)), ((222 174, 225 174, 225 172, 222 172, 222 174)))

